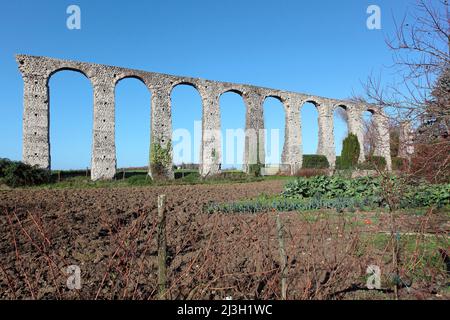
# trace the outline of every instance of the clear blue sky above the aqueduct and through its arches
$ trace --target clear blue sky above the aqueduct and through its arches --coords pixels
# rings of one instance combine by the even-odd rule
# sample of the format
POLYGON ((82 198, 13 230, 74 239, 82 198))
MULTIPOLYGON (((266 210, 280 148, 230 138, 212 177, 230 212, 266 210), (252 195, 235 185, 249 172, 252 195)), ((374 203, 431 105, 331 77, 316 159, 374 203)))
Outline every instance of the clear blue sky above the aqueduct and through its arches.
MULTIPOLYGON (((95 62, 211 80, 347 98, 360 81, 391 63, 385 45, 393 18, 414 0, 317 1, 4 1, 0 11, 0 157, 21 158, 21 75, 14 54, 25 53, 95 62), (66 27, 66 8, 81 8, 81 30, 66 27), (366 27, 366 9, 381 8, 381 30, 366 27)), ((393 77, 389 73, 384 77, 393 77)), ((81 74, 64 71, 50 81, 52 168, 85 168, 90 163, 92 89, 81 74)), ((235 94, 221 98, 222 127, 243 128, 245 110, 235 94)), ((193 131, 201 119, 195 89, 172 94, 173 127, 193 131)), ((116 88, 118 166, 147 164, 150 93, 138 80, 116 88)), ((266 127, 284 136, 280 103, 264 106, 266 127)), ((317 113, 302 110, 304 153, 317 148, 317 113)), ((337 121, 337 152, 345 135, 337 121)), ((192 146, 193 161, 198 145, 192 146)), ((271 150, 274 159, 278 150, 271 150)), ((238 150, 242 152, 242 150, 238 150)), ((241 163, 241 155, 233 164, 241 163)), ((190 162, 192 159, 177 158, 190 162)))

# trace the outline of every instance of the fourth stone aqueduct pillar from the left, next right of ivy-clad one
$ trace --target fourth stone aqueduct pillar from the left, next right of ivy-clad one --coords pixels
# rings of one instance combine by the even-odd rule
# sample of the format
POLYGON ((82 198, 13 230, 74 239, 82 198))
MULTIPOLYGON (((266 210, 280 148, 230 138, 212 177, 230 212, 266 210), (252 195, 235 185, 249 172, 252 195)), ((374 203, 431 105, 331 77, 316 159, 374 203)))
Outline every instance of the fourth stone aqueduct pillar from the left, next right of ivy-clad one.
POLYGON ((202 96, 202 145, 200 147, 200 175, 213 176, 220 173, 222 158, 220 139, 219 94, 214 88, 200 90, 202 96))

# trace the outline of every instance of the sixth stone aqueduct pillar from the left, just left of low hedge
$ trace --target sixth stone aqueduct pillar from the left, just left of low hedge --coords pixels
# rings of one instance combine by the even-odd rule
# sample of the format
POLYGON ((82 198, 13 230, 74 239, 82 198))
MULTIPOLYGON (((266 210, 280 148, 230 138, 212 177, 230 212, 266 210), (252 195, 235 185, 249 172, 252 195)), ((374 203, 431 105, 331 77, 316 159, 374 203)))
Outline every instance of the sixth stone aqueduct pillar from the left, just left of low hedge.
POLYGON ((284 101, 286 112, 284 146, 281 162, 289 168, 289 174, 296 174, 303 163, 302 128, 300 125, 300 103, 291 98, 284 101))

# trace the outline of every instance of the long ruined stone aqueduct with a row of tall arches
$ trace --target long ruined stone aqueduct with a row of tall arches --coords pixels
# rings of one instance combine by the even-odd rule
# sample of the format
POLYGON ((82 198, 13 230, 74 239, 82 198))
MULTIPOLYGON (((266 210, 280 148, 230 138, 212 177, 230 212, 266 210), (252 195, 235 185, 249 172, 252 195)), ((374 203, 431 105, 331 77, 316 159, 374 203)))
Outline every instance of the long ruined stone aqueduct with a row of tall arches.
MULTIPOLYGON (((94 96, 93 141, 91 155, 91 178, 112 179, 116 173, 115 106, 116 84, 125 78, 141 80, 151 92, 151 144, 159 144, 171 151, 171 91, 180 84, 195 87, 202 99, 202 141, 200 173, 202 176, 220 171, 221 138, 219 98, 225 92, 242 96, 246 106, 244 168, 255 163, 257 153, 264 161, 263 103, 267 97, 280 100, 285 111, 285 141, 282 163, 288 173, 294 174, 302 166, 302 136, 300 109, 312 102, 319 113, 318 154, 325 155, 334 166, 336 161, 333 130, 333 112, 343 107, 348 114, 348 129, 358 136, 361 143, 360 161, 364 160, 362 113, 370 111, 378 131, 376 154, 386 159, 391 168, 388 119, 376 106, 302 93, 287 92, 251 85, 217 82, 199 78, 179 77, 154 72, 131 70, 68 60, 16 56, 24 81, 23 110, 23 161, 41 168, 50 168, 49 139, 49 87, 50 77, 61 70, 78 71, 92 83, 94 96), (257 150, 259 149, 259 150, 257 150)), ((150 166, 149 166, 150 170, 150 166)), ((150 172, 151 174, 151 172, 150 172)), ((165 165, 167 178, 173 177, 172 163, 165 165)))

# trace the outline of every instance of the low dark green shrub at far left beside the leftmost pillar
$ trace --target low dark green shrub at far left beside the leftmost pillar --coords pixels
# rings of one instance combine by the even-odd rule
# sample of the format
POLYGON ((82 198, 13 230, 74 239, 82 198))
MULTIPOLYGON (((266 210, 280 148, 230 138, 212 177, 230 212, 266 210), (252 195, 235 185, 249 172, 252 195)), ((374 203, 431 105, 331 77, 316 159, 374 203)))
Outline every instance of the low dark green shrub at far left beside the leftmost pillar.
POLYGON ((10 187, 33 186, 51 181, 51 173, 46 169, 32 167, 20 161, 11 161, 3 169, 3 182, 10 187))

